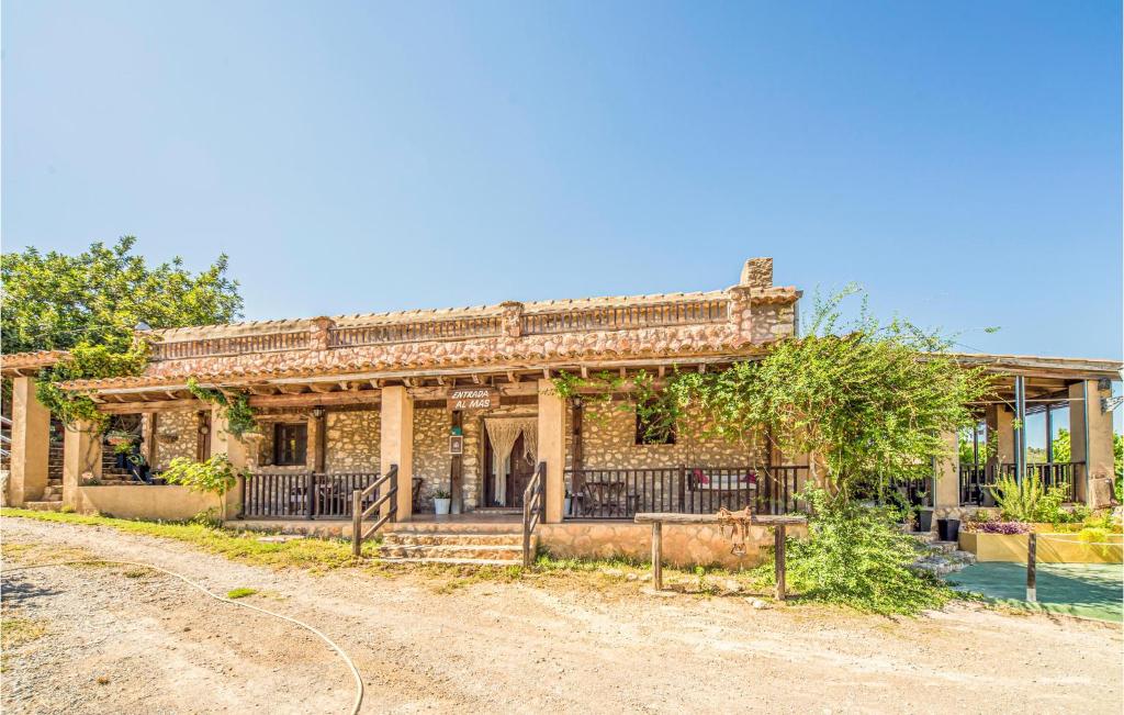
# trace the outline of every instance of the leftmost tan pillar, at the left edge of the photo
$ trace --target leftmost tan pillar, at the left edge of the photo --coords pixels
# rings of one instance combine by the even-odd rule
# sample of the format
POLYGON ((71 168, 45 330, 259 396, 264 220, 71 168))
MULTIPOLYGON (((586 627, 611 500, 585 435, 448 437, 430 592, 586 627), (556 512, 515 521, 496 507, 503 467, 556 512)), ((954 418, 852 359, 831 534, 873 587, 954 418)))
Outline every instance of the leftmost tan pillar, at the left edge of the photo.
POLYGON ((21 507, 43 498, 47 488, 51 411, 35 395, 34 378, 11 381, 11 471, 8 504, 21 507))

